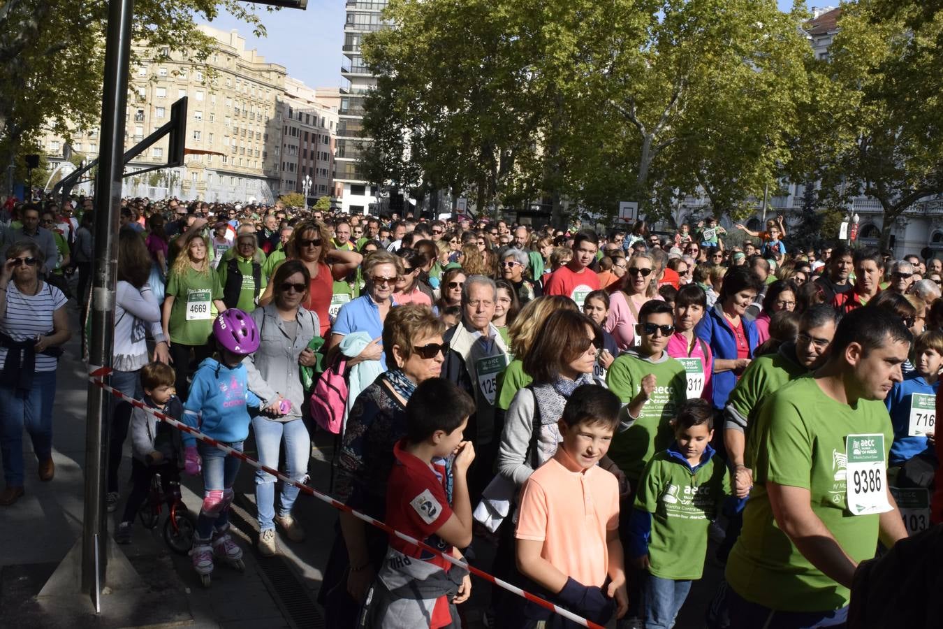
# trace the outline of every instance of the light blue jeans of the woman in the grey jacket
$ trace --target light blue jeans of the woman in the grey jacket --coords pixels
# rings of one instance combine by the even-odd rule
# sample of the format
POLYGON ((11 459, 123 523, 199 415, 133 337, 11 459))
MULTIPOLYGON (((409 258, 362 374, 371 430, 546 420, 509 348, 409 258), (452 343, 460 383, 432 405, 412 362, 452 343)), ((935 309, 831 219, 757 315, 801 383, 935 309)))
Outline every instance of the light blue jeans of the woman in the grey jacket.
MULTIPOLYGON (((273 422, 262 416, 252 418, 252 431, 256 435, 258 460, 266 467, 278 469, 278 452, 285 441, 285 467, 291 480, 305 482, 307 461, 311 457, 311 437, 301 419, 290 422, 273 422)), ((260 531, 274 528, 275 477, 269 472, 256 470, 256 508, 260 531)), ((293 485, 282 485, 279 516, 291 513, 299 489, 293 485)))

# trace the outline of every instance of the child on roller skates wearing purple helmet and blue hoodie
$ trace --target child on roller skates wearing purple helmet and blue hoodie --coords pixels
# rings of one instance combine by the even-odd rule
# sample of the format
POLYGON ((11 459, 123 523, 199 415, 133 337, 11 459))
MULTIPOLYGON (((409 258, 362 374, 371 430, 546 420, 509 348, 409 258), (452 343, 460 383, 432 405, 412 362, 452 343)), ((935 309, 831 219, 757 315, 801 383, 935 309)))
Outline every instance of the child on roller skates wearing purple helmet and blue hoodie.
MULTIPOLYGON (((213 339, 220 360, 205 359, 193 374, 183 421, 241 452, 251 422, 246 406, 261 406, 248 388, 242 366, 242 358, 258 349, 258 329, 248 314, 229 308, 213 322, 213 339)), ((240 459, 226 456, 203 441, 197 445, 189 433, 183 435, 183 444, 186 472, 196 475, 203 471, 203 506, 196 521, 190 556, 194 570, 204 585, 209 585, 214 555, 242 568, 242 549, 228 533, 228 510, 240 459)))

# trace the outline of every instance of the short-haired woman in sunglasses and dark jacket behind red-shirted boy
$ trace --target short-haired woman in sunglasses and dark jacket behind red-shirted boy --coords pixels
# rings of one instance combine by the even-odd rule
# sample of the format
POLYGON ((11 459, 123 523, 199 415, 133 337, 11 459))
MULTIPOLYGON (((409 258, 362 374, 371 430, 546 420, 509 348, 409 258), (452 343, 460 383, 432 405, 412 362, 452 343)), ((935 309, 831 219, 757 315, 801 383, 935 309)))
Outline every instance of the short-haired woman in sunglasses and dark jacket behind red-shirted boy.
MULTIPOLYGON (((438 377, 448 345, 443 324, 425 306, 394 308, 383 326, 389 371, 356 398, 340 445, 339 501, 383 520, 393 444, 406 433, 405 406, 416 387, 438 377)), ((356 613, 387 552, 387 535, 347 513, 324 573, 321 603, 332 627, 356 625, 356 613)))

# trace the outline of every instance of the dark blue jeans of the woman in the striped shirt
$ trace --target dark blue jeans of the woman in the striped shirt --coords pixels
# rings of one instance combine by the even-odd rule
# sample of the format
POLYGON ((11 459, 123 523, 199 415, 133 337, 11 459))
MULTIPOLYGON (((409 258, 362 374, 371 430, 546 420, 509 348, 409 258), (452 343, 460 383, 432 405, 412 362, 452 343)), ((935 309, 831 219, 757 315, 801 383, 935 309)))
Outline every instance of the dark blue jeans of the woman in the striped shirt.
POLYGON ((33 387, 17 391, 0 387, 0 454, 7 485, 23 487, 23 429, 33 441, 36 458, 53 455, 53 402, 56 372, 36 372, 33 387))

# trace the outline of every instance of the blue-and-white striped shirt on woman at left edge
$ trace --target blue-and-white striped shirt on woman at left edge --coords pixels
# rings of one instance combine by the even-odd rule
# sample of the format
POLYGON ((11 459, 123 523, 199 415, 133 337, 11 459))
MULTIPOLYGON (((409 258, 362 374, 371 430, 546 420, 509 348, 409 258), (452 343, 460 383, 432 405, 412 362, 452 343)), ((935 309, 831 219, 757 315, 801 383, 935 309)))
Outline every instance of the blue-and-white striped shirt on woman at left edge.
MULTIPOLYGON (((35 295, 23 294, 15 282, 10 282, 7 285, 7 314, 0 320, 0 332, 13 340, 52 334, 53 313, 67 301, 61 290, 45 282, 40 283, 40 291, 35 295)), ((0 364, 6 362, 7 348, 0 347, 0 364)), ((36 355, 37 372, 55 372, 57 365, 55 356, 36 355)))

